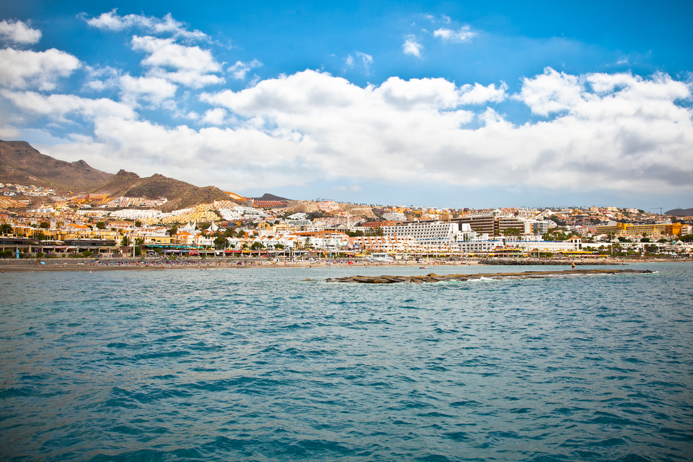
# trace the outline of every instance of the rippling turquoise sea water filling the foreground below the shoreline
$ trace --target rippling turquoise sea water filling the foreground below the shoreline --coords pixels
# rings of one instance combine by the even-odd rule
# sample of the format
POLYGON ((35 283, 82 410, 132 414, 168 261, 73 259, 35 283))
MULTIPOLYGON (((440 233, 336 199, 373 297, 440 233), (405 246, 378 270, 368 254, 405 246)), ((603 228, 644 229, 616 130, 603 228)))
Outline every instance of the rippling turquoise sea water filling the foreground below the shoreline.
POLYGON ((693 271, 2 274, 2 461, 690 461, 693 271))

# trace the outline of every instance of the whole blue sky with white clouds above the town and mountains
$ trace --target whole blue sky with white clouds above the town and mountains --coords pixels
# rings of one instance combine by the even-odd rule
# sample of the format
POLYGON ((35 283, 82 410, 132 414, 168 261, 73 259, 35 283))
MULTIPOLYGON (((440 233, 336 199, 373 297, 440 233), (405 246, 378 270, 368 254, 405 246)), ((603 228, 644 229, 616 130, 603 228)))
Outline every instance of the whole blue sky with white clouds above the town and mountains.
POLYGON ((693 206, 693 2, 22 1, 0 138, 365 204, 693 206))

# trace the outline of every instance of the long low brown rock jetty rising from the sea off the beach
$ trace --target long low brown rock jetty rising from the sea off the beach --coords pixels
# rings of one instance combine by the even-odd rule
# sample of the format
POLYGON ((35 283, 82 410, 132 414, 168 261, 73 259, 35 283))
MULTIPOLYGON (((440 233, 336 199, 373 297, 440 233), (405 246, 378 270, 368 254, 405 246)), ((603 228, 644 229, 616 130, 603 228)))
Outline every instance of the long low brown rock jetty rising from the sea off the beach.
POLYGON ((480 279, 537 279, 561 276, 590 276, 606 274, 651 274, 649 269, 568 269, 565 271, 526 271, 523 273, 485 273, 485 274, 435 274, 426 276, 347 276, 345 278, 327 278, 328 283, 439 283, 441 281, 473 281, 480 279))

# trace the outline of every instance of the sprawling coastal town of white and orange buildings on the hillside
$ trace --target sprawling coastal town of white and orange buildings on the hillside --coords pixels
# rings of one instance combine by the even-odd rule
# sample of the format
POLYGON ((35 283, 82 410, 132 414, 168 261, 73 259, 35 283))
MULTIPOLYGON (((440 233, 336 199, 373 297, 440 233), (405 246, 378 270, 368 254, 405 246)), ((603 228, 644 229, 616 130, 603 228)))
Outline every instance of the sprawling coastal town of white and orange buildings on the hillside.
MULTIPOLYGON (((690 258, 693 217, 636 208, 437 208, 327 199, 63 196, 0 184, 2 258, 690 258), (265 199, 265 200, 263 200, 265 199)), ((689 212, 690 215, 690 212, 689 212)))

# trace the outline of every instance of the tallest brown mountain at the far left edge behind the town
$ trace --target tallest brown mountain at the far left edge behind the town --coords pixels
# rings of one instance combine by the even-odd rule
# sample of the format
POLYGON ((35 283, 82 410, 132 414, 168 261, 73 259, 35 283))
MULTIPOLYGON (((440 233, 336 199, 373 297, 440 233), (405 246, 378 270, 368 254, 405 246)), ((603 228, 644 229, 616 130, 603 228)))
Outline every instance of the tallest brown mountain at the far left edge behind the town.
POLYGON ((26 141, 0 140, 0 181, 33 184, 56 191, 86 191, 115 175, 91 168, 85 161, 66 162, 41 154, 26 141))

